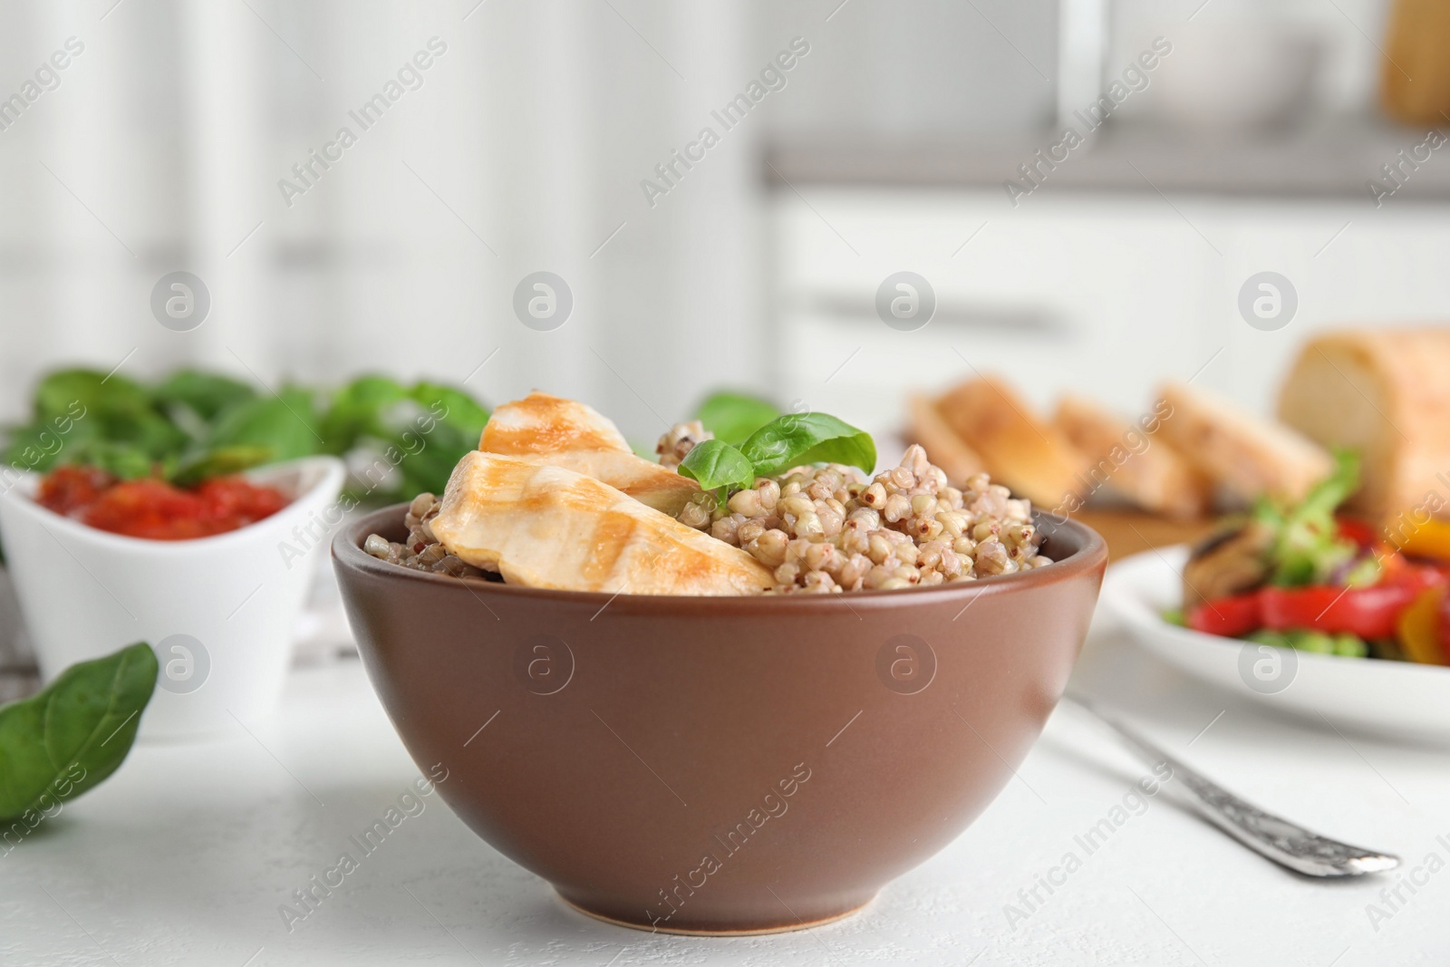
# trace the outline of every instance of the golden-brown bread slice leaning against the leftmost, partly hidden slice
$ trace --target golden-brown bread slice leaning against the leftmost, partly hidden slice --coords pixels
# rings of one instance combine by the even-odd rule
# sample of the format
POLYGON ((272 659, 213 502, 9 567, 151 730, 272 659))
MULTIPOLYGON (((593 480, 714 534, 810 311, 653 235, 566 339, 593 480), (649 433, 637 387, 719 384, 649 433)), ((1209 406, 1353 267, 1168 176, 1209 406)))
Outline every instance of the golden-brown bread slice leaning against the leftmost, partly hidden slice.
POLYGON ((947 425, 982 455, 993 480, 1041 507, 1076 502, 1088 461, 996 377, 969 380, 937 402, 947 425))

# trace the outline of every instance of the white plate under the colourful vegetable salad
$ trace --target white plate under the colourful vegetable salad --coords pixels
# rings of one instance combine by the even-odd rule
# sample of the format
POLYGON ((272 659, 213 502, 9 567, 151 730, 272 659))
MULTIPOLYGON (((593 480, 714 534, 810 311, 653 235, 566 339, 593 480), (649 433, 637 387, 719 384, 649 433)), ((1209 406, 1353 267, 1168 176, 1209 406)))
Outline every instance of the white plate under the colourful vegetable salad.
POLYGON ((1172 547, 1118 561, 1103 578, 1102 607, 1157 657, 1235 696, 1321 728, 1450 742, 1450 668, 1272 648, 1163 621, 1182 605, 1186 560, 1186 547, 1172 547))

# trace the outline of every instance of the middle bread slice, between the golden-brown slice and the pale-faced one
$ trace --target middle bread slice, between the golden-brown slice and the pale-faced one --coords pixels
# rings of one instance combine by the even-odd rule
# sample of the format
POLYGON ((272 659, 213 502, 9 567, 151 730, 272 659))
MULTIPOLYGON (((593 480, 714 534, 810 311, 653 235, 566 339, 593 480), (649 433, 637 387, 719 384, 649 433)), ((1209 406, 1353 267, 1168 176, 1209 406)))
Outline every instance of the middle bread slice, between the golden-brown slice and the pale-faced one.
POLYGON ((1053 423, 1092 467, 1096 490, 1109 486, 1144 510, 1167 518, 1201 518, 1214 499, 1214 481, 1159 433, 1159 415, 1130 423, 1080 396, 1057 403, 1053 423))

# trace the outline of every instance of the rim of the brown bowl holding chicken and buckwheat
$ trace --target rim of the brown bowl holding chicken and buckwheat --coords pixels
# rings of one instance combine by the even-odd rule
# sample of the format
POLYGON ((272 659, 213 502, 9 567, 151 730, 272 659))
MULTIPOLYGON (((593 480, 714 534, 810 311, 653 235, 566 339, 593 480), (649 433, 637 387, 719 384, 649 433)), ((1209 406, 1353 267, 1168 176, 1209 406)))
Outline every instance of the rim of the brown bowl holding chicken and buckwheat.
POLYGON ((729 610, 731 613, 748 613, 754 610, 848 610, 854 605, 869 609, 890 606, 927 606, 942 602, 960 600, 964 605, 980 594, 1006 594, 1014 589, 1028 590, 1072 581, 1096 568, 1102 568, 1108 557, 1108 545, 1102 536, 1085 523, 1070 518, 1058 522, 1048 519, 1043 510, 1034 510, 1034 523, 1041 525, 1048 519, 1053 531, 1066 529, 1072 534, 1079 547, 1060 561, 1040 568, 1032 568, 1027 574, 999 574, 983 577, 974 581, 958 581, 954 584, 937 584, 932 587, 914 587, 900 590, 847 592, 841 594, 624 594, 619 592, 570 592, 548 587, 521 587, 502 581, 489 581, 478 577, 451 577, 432 571, 415 571, 381 561, 362 549, 362 542, 368 534, 380 532, 386 526, 396 525, 406 512, 407 502, 378 507, 371 513, 348 522, 332 538, 332 560, 339 571, 370 574, 393 581, 420 581, 435 587, 463 587, 474 597, 489 596, 499 599, 521 599, 536 602, 573 602, 603 609, 609 602, 624 605, 629 610, 677 610, 680 607, 697 607, 706 603, 712 610, 729 610))

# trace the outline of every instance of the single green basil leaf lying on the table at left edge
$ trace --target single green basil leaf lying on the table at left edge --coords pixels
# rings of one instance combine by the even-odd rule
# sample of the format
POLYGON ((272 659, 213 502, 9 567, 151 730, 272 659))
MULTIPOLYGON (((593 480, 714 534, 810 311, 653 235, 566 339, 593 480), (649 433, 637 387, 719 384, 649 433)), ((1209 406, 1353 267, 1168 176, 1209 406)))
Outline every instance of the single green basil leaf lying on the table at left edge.
POLYGON ((157 655, 138 642, 0 707, 0 819, 45 813, 115 773, 155 687, 157 655))

